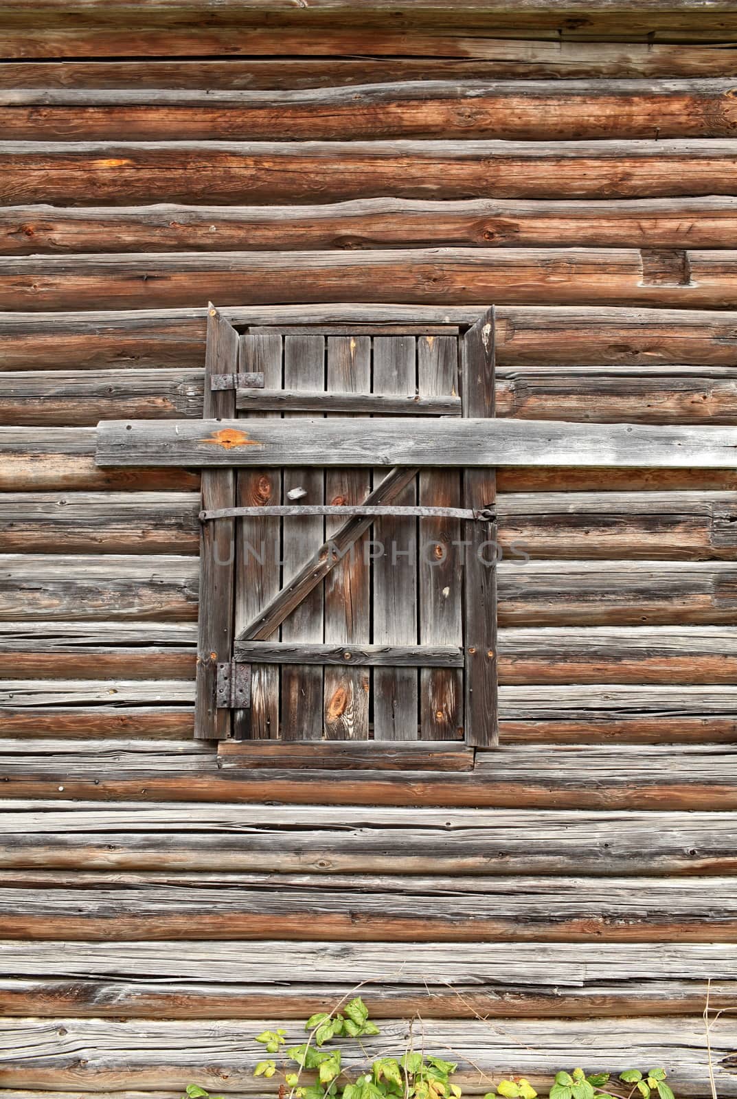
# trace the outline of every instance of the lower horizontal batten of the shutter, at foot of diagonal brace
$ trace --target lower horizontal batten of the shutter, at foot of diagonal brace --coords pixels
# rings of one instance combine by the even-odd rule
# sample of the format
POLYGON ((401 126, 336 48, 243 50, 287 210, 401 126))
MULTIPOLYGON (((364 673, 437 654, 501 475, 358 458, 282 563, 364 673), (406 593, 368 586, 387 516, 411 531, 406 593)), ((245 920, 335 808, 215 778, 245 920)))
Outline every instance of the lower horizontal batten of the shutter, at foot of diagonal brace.
MULTIPOLYGON (((268 641, 239 641, 236 659, 245 663, 330 664, 334 666, 366 664, 375 668, 391 667, 462 667, 462 650, 458 645, 356 645, 289 644, 268 641)), ((356 670, 360 670, 357 668, 356 670)), ((345 737, 336 737, 344 740, 345 737)), ((362 737, 366 740, 366 737, 362 737)))

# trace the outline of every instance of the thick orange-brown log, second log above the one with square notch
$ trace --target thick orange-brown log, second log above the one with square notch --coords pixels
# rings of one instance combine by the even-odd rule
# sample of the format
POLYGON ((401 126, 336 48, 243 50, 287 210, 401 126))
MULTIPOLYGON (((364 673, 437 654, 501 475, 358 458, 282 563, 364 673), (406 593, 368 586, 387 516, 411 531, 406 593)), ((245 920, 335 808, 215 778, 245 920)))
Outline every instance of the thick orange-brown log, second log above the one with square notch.
POLYGON ((13 204, 658 198, 736 193, 735 148, 730 138, 5 142, 0 166, 13 204))

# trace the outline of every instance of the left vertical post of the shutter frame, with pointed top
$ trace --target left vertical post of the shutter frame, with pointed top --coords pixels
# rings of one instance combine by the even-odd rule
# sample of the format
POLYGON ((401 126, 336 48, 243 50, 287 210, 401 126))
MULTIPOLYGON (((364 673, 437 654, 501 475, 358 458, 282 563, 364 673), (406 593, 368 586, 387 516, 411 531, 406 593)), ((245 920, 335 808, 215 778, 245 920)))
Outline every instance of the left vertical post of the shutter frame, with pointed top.
MULTIPOLYGON (((212 306, 208 312, 205 351, 204 415, 233 419, 235 391, 213 392, 210 375, 237 368, 238 334, 212 306)), ((235 504, 235 474, 232 469, 202 470, 202 507, 208 510, 235 504)), ((234 521, 217 519, 202 524, 200 536, 200 608, 197 655, 197 740, 226 740, 232 733, 230 710, 215 706, 219 662, 231 659, 233 647, 233 599, 235 587, 234 521)))

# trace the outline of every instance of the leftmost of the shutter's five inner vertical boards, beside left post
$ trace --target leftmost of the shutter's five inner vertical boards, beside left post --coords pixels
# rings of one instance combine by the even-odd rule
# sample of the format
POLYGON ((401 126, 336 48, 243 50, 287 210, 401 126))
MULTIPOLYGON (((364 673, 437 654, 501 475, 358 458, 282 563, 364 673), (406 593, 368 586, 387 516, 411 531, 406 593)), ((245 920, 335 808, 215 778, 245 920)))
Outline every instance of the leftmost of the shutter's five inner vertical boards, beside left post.
MULTIPOLYGON (((239 341, 238 370, 264 373, 264 385, 281 388, 281 336, 244 335, 239 341)), ((280 417, 279 412, 249 412, 253 418, 280 417)), ((278 469, 239 469, 236 479, 239 508, 281 503, 278 469)), ((235 632, 243 630, 279 590, 281 578, 281 522, 272 519, 239 519, 236 528, 235 632)), ((253 668, 250 709, 236 710, 234 740, 268 740, 279 734, 279 667, 253 668)))

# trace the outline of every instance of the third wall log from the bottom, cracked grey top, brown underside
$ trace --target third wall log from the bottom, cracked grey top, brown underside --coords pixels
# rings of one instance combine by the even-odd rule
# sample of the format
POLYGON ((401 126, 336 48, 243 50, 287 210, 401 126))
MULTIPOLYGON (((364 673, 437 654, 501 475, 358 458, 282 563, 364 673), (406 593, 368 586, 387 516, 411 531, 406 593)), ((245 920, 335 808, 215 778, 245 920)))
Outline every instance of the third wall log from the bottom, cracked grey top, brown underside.
POLYGON ((377 884, 348 874, 5 870, 3 879, 4 939, 737 941, 729 877, 652 879, 646 904, 633 877, 382 874, 377 884))

